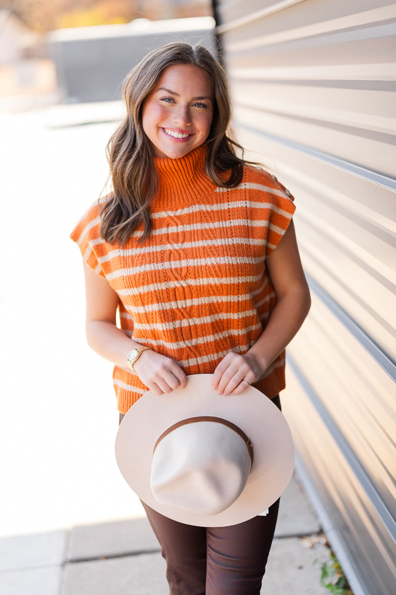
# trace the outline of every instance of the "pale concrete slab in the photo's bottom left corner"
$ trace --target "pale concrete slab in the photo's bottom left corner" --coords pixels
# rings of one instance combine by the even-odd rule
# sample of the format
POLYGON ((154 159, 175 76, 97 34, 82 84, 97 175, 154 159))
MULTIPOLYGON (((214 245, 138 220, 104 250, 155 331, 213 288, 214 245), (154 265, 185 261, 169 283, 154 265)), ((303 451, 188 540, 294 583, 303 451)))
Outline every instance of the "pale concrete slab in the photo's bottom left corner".
MULTIPOLYGON (((2 572, 2 595, 59 595, 62 569, 60 566, 2 572)), ((75 591, 74 595, 77 595, 75 591)))

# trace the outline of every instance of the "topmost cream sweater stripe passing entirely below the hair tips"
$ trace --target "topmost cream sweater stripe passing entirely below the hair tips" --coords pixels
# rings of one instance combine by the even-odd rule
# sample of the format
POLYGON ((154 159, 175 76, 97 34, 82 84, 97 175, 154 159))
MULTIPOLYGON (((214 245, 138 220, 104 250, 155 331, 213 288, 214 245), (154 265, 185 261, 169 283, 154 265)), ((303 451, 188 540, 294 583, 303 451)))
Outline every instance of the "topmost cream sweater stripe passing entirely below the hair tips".
MULTIPOLYGON (((91 243, 93 244, 93 242, 91 243)), ((99 256, 98 262, 106 262, 111 260, 112 258, 125 258, 126 256, 137 256, 139 254, 149 254, 151 252, 163 252, 165 250, 185 250, 187 248, 203 248, 205 246, 233 246, 235 244, 244 244, 247 246, 264 246, 265 240, 255 238, 250 239, 248 237, 224 237, 218 240, 201 240, 197 242, 161 244, 160 246, 146 246, 145 248, 129 248, 128 250, 118 248, 115 250, 109 250, 109 252, 107 252, 107 254, 104 256, 99 256)))

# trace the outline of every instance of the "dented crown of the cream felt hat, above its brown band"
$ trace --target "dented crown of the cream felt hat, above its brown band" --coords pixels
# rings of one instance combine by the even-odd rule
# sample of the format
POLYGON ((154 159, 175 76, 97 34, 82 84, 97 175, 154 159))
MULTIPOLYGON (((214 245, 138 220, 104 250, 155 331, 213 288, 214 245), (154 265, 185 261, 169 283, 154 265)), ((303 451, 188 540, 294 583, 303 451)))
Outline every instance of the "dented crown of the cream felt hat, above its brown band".
POLYGON ((170 428, 157 444, 151 491, 162 505, 216 515, 245 488, 251 469, 249 449, 242 436, 221 421, 186 422, 170 428))

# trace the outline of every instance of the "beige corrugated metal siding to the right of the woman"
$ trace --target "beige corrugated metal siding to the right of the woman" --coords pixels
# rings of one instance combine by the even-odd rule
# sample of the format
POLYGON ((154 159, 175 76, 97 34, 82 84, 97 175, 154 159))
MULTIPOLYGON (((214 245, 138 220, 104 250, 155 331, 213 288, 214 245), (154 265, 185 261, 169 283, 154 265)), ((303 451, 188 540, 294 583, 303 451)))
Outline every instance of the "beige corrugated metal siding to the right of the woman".
POLYGON ((355 595, 396 593, 396 4, 218 0, 235 127, 296 196, 284 411, 355 595))

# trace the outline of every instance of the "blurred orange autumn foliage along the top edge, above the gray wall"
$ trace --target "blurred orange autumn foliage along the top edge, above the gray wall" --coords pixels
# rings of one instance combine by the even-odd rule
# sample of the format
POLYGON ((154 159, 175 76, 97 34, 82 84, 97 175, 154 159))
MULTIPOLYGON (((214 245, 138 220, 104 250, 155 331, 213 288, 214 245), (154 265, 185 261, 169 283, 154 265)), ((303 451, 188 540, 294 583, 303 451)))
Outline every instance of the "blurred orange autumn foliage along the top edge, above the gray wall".
POLYGON ((203 17, 209 0, 0 0, 29 29, 46 32, 63 27, 128 23, 134 18, 203 17))

